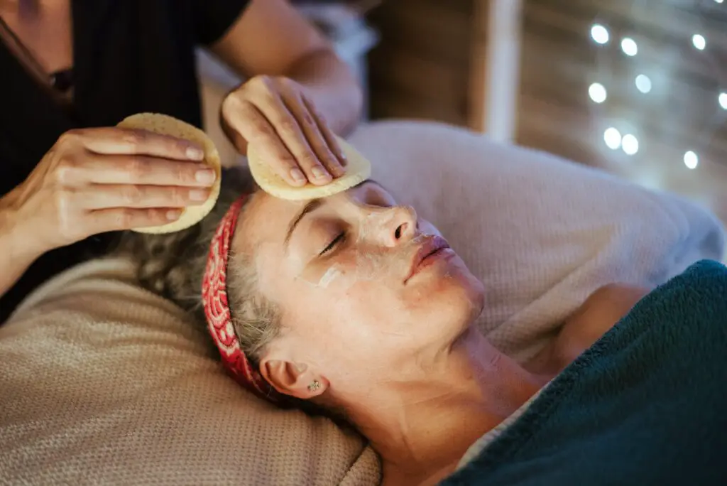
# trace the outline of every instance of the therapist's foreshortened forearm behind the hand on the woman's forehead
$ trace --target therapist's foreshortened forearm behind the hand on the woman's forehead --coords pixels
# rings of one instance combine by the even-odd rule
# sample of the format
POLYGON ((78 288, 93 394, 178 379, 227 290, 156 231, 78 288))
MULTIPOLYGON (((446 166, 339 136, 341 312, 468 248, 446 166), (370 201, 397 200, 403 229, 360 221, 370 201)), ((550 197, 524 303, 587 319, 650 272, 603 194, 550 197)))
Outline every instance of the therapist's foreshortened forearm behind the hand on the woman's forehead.
POLYGON ((348 65, 332 50, 312 52, 285 75, 305 88, 334 133, 345 136, 356 128, 363 105, 361 87, 348 65))

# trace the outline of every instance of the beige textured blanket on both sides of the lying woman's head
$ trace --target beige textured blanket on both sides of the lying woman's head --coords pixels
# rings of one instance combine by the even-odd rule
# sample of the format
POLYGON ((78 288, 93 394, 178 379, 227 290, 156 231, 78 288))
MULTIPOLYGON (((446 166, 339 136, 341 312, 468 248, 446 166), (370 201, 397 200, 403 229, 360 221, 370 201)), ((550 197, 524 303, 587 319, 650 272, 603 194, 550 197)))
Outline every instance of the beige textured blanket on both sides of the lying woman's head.
MULTIPOLYGON (((720 258, 712 216, 552 156, 438 124, 351 138, 488 289, 483 330, 537 348, 589 292, 720 258)), ((364 442, 228 379, 180 309, 127 262, 59 276, 0 327, 0 471, 17 484, 371 485, 364 442)))

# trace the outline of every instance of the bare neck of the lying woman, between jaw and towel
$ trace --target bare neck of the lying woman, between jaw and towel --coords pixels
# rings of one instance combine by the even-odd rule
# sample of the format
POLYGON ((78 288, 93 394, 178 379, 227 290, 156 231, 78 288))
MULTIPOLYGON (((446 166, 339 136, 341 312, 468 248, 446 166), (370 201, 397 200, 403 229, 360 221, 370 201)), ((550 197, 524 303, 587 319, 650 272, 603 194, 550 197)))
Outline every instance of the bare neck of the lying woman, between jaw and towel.
POLYGON ((381 456, 385 484, 436 484, 543 384, 470 327, 433 369, 377 386, 348 415, 381 456))

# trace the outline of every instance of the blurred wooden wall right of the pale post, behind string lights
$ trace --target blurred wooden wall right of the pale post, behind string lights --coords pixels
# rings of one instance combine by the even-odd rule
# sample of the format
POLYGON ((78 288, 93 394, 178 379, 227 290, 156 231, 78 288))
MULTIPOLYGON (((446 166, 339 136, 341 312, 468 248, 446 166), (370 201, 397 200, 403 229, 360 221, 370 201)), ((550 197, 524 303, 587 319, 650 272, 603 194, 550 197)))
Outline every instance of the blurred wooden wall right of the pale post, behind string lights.
POLYGON ((675 191, 727 220, 726 27, 727 4, 712 0, 525 0, 517 142, 675 191), (596 22, 608 27, 606 45, 590 39, 596 22), (620 49, 624 36, 635 57, 620 49), (636 89, 640 73, 652 81, 647 94, 636 89), (590 100, 593 82, 606 87, 604 103, 590 100), (609 126, 635 134, 638 153, 606 148, 609 126), (683 163, 688 150, 696 170, 683 163))

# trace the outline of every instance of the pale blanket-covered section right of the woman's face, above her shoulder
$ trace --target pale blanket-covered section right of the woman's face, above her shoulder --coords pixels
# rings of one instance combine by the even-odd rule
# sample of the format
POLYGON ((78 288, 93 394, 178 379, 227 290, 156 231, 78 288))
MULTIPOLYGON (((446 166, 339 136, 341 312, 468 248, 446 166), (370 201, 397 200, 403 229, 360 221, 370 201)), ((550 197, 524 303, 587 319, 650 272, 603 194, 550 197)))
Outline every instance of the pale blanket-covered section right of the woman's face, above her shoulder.
POLYGON ((603 284, 653 286, 724 254, 710 212, 550 154, 430 122, 379 122, 350 141, 485 283, 481 329, 518 359, 603 284))

